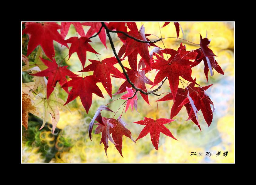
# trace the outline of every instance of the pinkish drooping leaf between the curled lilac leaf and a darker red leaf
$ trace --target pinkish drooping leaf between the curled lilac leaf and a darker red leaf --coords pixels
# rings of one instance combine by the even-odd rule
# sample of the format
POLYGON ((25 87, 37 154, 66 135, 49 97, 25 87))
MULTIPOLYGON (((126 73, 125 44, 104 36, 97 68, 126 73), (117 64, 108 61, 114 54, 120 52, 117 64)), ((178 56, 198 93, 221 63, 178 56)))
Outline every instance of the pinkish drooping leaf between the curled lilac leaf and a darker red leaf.
POLYGON ((109 129, 113 128, 116 125, 114 125, 113 123, 110 123, 109 118, 103 117, 102 120, 103 120, 103 124, 94 123, 94 124, 98 125, 97 128, 95 129, 95 134, 99 134, 100 132, 102 132, 101 140, 100 140, 99 144, 101 144, 101 143, 104 144, 105 153, 106 153, 106 156, 108 156, 107 155, 107 149, 109 147, 108 141, 112 142, 114 145, 118 145, 113 141, 112 137, 110 136, 110 132, 109 132, 109 129))

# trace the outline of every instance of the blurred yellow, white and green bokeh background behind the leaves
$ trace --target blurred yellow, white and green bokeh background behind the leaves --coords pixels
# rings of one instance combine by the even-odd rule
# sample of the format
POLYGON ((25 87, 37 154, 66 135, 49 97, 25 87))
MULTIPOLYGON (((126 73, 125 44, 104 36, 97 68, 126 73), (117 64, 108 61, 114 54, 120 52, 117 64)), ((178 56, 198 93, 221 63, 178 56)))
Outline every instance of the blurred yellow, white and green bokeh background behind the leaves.
MULTIPOLYGON (((60 24, 60 23, 58 23, 60 24)), ((145 33, 154 34, 160 37, 160 30, 157 22, 136 22, 138 29, 143 24, 145 27, 145 33)), ((164 22, 159 22, 160 27, 164 22)), ((97 83, 101 89, 105 99, 93 94, 92 106, 89 113, 86 114, 85 109, 81 103, 79 97, 68 104, 72 113, 66 110, 60 109, 60 120, 57 124, 56 134, 51 133, 51 120, 48 120, 45 127, 39 131, 42 125, 42 120, 29 113, 29 126, 28 130, 22 126, 22 163, 234 163, 234 22, 180 22, 180 25, 184 31, 184 38, 194 43, 200 43, 199 33, 204 38, 206 31, 208 31, 208 38, 211 39, 209 47, 217 55, 216 61, 219 63, 224 71, 224 75, 217 73, 214 70, 214 76, 208 75, 208 82, 204 75, 204 64, 201 62, 196 67, 192 68, 192 78, 197 78, 197 83, 201 86, 210 85, 206 92, 214 103, 215 111, 213 114, 213 121, 210 127, 207 127, 207 123, 204 117, 199 111, 199 121, 202 132, 191 121, 187 120, 187 111, 183 107, 180 113, 174 117, 177 119, 165 126, 172 132, 173 136, 178 139, 177 141, 160 134, 159 147, 156 151, 153 147, 150 139, 150 134, 134 143, 131 139, 123 136, 123 157, 116 150, 114 144, 109 142, 109 148, 107 150, 108 157, 106 157, 103 143, 99 145, 101 139, 100 134, 94 134, 92 141, 88 136, 89 123, 100 105, 106 105, 107 103, 120 98, 123 94, 118 94, 110 99, 109 95, 103 88, 101 83, 97 83), (221 155, 216 157, 217 152, 221 152, 221 155), (223 152, 228 152, 227 156, 223 156, 223 152), (191 156, 191 152, 203 153, 202 156, 191 156), (212 153, 211 157, 205 156, 206 152, 212 153)), ((22 25, 22 29, 24 25, 22 25)), ((85 33, 89 30, 89 26, 83 26, 85 33)), ((176 37, 176 30, 174 24, 171 22, 166 27, 161 28, 162 37, 176 37)), ((66 39, 76 36, 76 31, 71 24, 69 33, 66 39)), ((114 40, 116 50, 119 51, 122 46, 122 42, 119 40, 115 33, 111 33, 114 40)), ((183 38, 183 34, 180 30, 180 38, 183 38)), ((155 40, 157 37, 150 36, 150 40, 155 40)), ((22 36, 22 54, 26 55, 26 48, 28 44, 28 36, 22 36)), ((99 37, 91 39, 91 46, 98 52, 100 60, 114 56, 111 46, 107 38, 107 48, 100 42, 99 37)), ((164 39, 164 45, 166 48, 172 48, 177 50, 180 42, 186 45, 187 50, 199 48, 198 45, 190 44, 186 41, 178 39, 164 39)), ((60 63, 62 59, 68 54, 69 50, 56 43, 55 45, 55 59, 57 63, 60 63)), ((164 48, 161 42, 156 43, 157 46, 164 48)), ((70 45, 69 45, 70 46, 70 45)), ((35 51, 29 55, 29 61, 34 61, 35 51)), ((153 48, 153 47, 151 47, 153 48)), ((165 56, 166 57, 166 56, 165 56)), ((43 58, 47 58, 43 54, 43 58)), ((68 69, 76 74, 81 70, 81 62, 78 59, 76 53, 72 54, 69 60, 68 57, 62 62, 63 65, 68 65, 68 69)), ((87 52, 86 65, 90 62, 88 59, 98 60, 94 53, 87 52)), ((138 61, 140 56, 138 55, 138 61)), ((127 57, 122 61, 123 65, 129 67, 127 57)), ((122 71, 121 67, 116 64, 116 68, 122 71)), ((83 72, 83 75, 92 75, 93 72, 83 72)), ((151 73, 147 73, 147 77, 153 81, 155 77, 155 70, 151 73)), ((120 85, 125 80, 113 78, 112 79, 112 94, 114 94, 120 85)), ((68 79, 69 80, 69 79, 68 79)), ((22 82, 32 81, 32 76, 26 72, 22 72, 22 82)), ((146 84, 147 88, 150 85, 146 84)), ((57 88, 59 88, 57 86, 57 88)), ((180 83, 180 88, 182 85, 180 83)), ((163 87, 158 91, 158 94, 163 92, 170 92, 168 82, 165 82, 163 87)), ((59 88, 59 97, 66 102, 67 93, 59 88)), ((135 140, 140 131, 143 129, 143 125, 133 123, 134 121, 143 120, 143 117, 156 117, 157 110, 157 97, 150 94, 148 105, 143 98, 138 94, 138 112, 127 110, 123 113, 122 119, 127 123, 127 128, 132 132, 132 137, 135 140)), ((109 104, 109 108, 113 111, 117 111, 123 104, 124 100, 116 100, 109 104)), ((158 118, 170 119, 170 109, 173 105, 173 100, 159 102, 158 105, 158 118)), ((115 119, 122 113, 122 108, 114 117, 115 119)), ((113 117, 114 113, 102 111, 102 116, 113 117)))

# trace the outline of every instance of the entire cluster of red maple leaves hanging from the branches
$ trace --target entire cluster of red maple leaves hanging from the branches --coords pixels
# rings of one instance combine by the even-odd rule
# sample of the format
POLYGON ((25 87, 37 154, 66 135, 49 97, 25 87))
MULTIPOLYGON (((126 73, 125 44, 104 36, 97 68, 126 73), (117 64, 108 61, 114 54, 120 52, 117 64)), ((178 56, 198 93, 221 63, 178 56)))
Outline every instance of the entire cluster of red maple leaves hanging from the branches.
MULTIPOLYGON (((163 27, 169 23, 170 22, 166 22, 163 27)), ((138 29, 136 23, 134 22, 110 22, 105 23, 105 25, 108 27, 108 30, 121 31, 133 37, 128 37, 123 33, 117 33, 118 37, 123 43, 123 46, 119 50, 118 57, 122 61, 127 56, 130 68, 124 67, 124 69, 126 70, 130 81, 136 86, 136 88, 140 88, 147 92, 145 84, 152 85, 151 88, 153 88, 154 86, 159 85, 164 78, 168 78, 169 81, 171 92, 161 98, 159 101, 173 100, 174 104, 171 108, 170 119, 160 118, 153 120, 145 117, 144 120, 134 122, 140 125, 145 125, 136 141, 150 133, 152 144, 157 150, 160 132, 175 139, 171 132, 163 125, 174 121, 172 118, 180 112, 183 105, 187 109, 187 120, 192 120, 199 127, 199 129, 200 125, 197 118, 197 112, 199 110, 202 111, 208 126, 211 125, 214 108, 211 110, 210 104, 213 105, 213 103, 210 97, 205 93, 205 91, 211 85, 205 87, 195 87, 195 85, 198 84, 196 79, 192 78, 191 69, 203 60, 205 66, 204 73, 207 81, 209 70, 211 75, 213 75, 213 69, 215 69, 218 73, 224 74, 223 70, 215 60, 216 55, 208 47, 210 40, 207 38, 202 38, 200 35, 200 48, 194 51, 187 51, 186 46, 183 46, 182 43, 177 51, 170 48, 161 49, 154 43, 138 42, 134 39, 136 38, 141 41, 149 41, 147 36, 150 34, 145 34, 145 27, 143 25, 140 27, 140 29, 138 29), (128 31, 127 28, 130 31, 128 31), (152 46, 154 46, 154 48, 149 51, 149 48, 152 46), (139 63, 137 62, 138 54, 141 56, 139 63), (169 55, 170 57, 166 60, 163 54, 169 55), (153 56, 156 56, 156 59, 154 59, 153 56), (152 82, 146 77, 146 74, 153 69, 156 69, 158 72, 154 78, 154 81, 152 82), (184 89, 178 88, 180 77, 191 82, 184 89)), ((174 25, 178 38, 180 33, 180 24, 178 22, 174 22, 174 25)), ((109 96, 112 98, 112 84, 110 78, 110 74, 112 74, 112 76, 115 78, 125 79, 118 91, 113 95, 127 91, 127 93, 121 97, 123 100, 127 101, 125 112, 130 106, 132 110, 133 107, 137 110, 138 97, 137 94, 134 94, 137 91, 136 89, 132 88, 132 85, 126 79, 124 72, 121 73, 118 69, 116 69, 116 67, 114 67, 114 65, 118 63, 116 57, 107 58, 102 61, 89 59, 91 64, 84 68, 87 51, 99 54, 90 45, 90 42, 92 42, 90 37, 97 34, 103 45, 107 48, 105 31, 105 28, 100 22, 62 22, 61 25, 53 22, 25 23, 25 29, 22 30, 22 34, 29 35, 27 56, 32 53, 36 46, 40 45, 45 55, 51 60, 49 61, 42 59, 45 65, 48 66, 48 69, 33 74, 35 76, 48 77, 47 98, 49 98, 50 94, 54 90, 54 87, 56 86, 56 83, 59 81, 61 87, 68 93, 68 98, 65 104, 79 96, 86 113, 88 113, 92 104, 92 94, 94 93, 99 97, 103 97, 103 94, 97 87, 96 83, 101 82, 109 96), (76 32, 81 37, 71 37, 65 40, 71 24, 74 25, 76 32), (83 25, 90 26, 87 33, 84 32, 83 25), (60 33, 58 32, 59 29, 60 33), (67 48, 69 48, 67 43, 71 43, 69 48, 69 58, 73 53, 76 52, 83 67, 83 70, 79 72, 93 71, 93 75, 79 77, 79 75, 69 71, 67 66, 57 65, 55 59, 53 58, 55 56, 53 40, 66 46, 67 48), (69 76, 71 80, 67 81, 66 76, 69 76), (72 87, 70 92, 68 87, 72 87)), ((140 94, 147 104, 149 104, 148 95, 141 92, 140 94)), ((104 144, 105 152, 108 148, 108 140, 110 140, 123 157, 122 136, 124 135, 132 139, 131 132, 126 128, 127 124, 121 119, 121 116, 117 120, 113 118, 105 118, 101 116, 101 110, 113 112, 106 106, 99 107, 89 125, 89 137, 91 139, 93 125, 98 125, 95 133, 102 133, 100 143, 104 144), (98 123, 94 123, 95 120, 98 123), (112 137, 110 134, 112 134, 112 137)))

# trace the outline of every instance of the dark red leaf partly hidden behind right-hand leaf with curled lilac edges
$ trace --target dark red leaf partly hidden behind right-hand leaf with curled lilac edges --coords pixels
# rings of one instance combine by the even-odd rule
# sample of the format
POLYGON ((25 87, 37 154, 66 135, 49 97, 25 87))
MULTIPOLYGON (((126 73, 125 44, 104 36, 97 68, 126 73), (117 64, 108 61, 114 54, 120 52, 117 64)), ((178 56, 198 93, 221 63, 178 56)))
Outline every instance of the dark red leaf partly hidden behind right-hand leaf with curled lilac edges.
MULTIPOLYGON (((186 99, 186 97, 187 97, 187 89, 189 90, 189 92, 193 92, 193 90, 191 88, 194 88, 195 84, 194 83, 190 83, 189 86, 187 86, 187 88, 185 88, 185 89, 178 88, 176 99, 175 99, 175 101, 173 103, 173 106, 171 108, 170 119, 173 119, 173 117, 176 116, 180 112, 181 108, 183 107, 183 106, 180 106, 180 107, 178 107, 178 106, 183 102, 183 100, 186 99)), ((167 100, 173 100, 173 94, 172 93, 169 93, 169 94, 165 95, 163 98, 159 99, 158 101, 167 101, 167 100)), ((190 104, 185 104, 185 107, 186 107, 187 112, 189 114, 190 110, 192 108, 191 105, 190 104)), ((192 121, 201 130, 200 125, 198 124, 198 122, 195 119, 195 117, 192 118, 192 121)))

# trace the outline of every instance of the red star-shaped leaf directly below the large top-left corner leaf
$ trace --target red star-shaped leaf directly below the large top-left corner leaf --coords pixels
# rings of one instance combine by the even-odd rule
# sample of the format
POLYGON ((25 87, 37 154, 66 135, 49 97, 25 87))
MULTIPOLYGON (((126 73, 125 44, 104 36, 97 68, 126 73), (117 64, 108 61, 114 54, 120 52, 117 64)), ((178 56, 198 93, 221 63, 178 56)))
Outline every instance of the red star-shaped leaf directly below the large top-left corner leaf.
MULTIPOLYGON (((40 57, 42 62, 48 67, 47 69, 40 71, 35 74, 31 74, 33 76, 48 76, 48 82, 47 82, 47 99, 49 96, 52 94, 52 91, 54 90, 54 87, 56 87, 57 81, 59 81, 59 84, 62 86, 67 82, 66 76, 78 76, 74 73, 72 73, 69 69, 67 69, 66 66, 59 67, 58 64, 56 63, 55 59, 51 61, 43 59, 40 57)), ((69 94, 69 89, 67 87, 63 88, 68 94, 69 94)))

